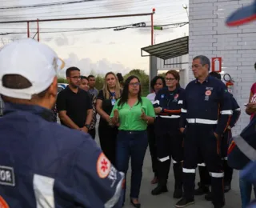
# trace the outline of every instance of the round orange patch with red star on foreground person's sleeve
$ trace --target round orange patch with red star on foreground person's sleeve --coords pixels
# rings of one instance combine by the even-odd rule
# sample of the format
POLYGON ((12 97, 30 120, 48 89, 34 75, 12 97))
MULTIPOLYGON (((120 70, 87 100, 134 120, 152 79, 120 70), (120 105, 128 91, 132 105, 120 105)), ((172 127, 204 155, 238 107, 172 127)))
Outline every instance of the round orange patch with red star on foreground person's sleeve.
POLYGON ((111 162, 105 154, 102 153, 98 156, 96 169, 99 178, 106 178, 110 174, 111 162))

